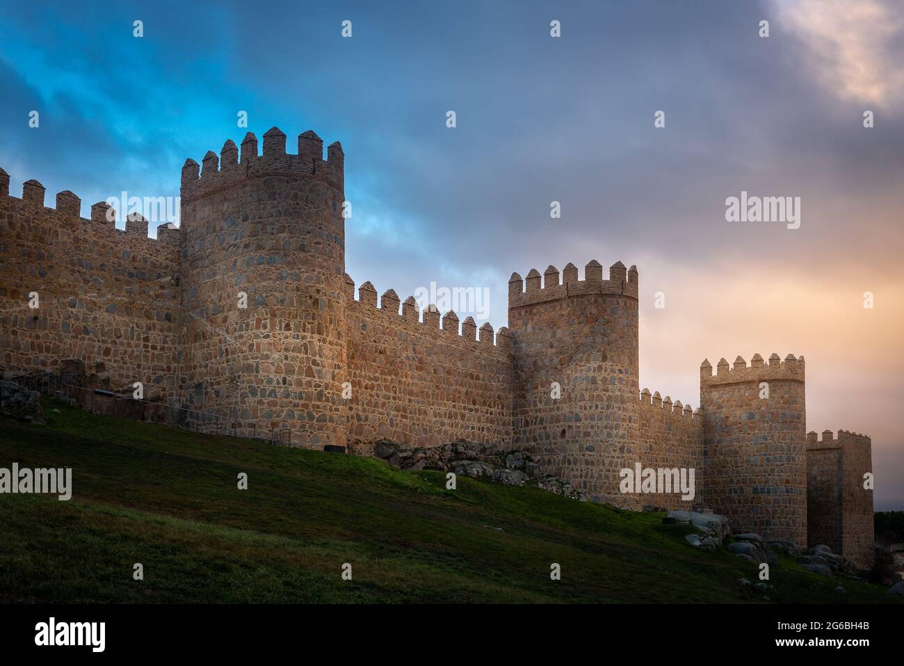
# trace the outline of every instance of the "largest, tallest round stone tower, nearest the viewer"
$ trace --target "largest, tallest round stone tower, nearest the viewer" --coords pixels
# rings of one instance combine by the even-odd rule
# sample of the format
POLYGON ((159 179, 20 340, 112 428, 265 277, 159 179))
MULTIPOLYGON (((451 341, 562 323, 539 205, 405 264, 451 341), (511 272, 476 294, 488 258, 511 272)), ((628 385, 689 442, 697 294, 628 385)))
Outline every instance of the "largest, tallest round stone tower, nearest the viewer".
POLYGON ((343 159, 271 128, 183 166, 180 379, 242 434, 344 445, 343 159))

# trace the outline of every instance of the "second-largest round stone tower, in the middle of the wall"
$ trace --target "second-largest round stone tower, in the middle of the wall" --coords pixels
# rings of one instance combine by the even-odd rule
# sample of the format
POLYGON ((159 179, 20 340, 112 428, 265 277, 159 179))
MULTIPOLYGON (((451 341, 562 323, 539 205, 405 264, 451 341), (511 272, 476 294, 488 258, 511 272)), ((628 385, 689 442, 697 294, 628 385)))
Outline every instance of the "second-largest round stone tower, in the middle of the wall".
POLYGON ((544 471, 594 499, 623 503, 619 471, 634 464, 637 269, 589 262, 509 281, 515 363, 514 441, 544 471))

